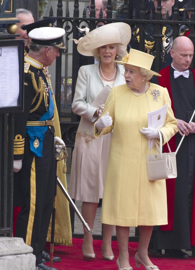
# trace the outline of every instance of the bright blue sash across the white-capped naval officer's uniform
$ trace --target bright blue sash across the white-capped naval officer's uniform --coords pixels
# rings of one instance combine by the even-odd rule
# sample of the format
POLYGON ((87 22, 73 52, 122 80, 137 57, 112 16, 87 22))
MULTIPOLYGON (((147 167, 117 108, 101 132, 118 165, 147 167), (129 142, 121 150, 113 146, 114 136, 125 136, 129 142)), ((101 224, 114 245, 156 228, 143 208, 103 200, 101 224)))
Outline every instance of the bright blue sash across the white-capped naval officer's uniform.
MULTIPOLYGON (((54 103, 52 99, 52 91, 49 90, 49 109, 42 117, 39 119, 39 121, 45 121, 50 120, 54 113, 54 103)), ((35 157, 42 157, 42 150, 43 150, 43 139, 45 137, 45 132, 47 130, 47 127, 45 126, 28 126, 26 127, 26 133, 28 133, 30 138, 30 149, 31 152, 35 155, 35 157), (39 146, 37 148, 34 147, 33 143, 35 140, 38 139, 39 146)))

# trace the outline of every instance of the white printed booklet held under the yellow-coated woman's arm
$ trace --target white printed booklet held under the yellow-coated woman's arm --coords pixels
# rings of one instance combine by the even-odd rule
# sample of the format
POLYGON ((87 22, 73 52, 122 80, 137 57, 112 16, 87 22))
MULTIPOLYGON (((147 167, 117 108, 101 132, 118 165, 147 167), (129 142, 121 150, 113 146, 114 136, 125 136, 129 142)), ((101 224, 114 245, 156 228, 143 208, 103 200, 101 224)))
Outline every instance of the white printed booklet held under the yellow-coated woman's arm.
MULTIPOLYGON (((167 115, 167 103, 158 110, 148 113, 148 127, 159 129, 164 126, 167 115)), ((148 149, 155 146, 155 139, 148 140, 148 149)))

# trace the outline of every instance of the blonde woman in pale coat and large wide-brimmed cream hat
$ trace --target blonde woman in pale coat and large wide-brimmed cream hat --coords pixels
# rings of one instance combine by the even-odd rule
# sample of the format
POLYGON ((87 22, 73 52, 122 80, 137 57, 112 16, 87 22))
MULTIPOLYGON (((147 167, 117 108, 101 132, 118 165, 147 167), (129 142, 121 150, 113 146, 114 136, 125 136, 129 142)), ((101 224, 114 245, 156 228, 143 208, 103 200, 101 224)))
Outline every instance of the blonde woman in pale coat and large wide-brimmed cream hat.
MULTIPOLYGON (((111 133, 95 139, 94 122, 101 115, 111 87, 124 83, 121 65, 131 39, 131 28, 126 23, 110 23, 96 28, 75 42, 80 54, 94 56, 97 64, 79 69, 72 103, 74 113, 81 116, 73 150, 70 196, 82 201, 82 216, 93 229, 99 199, 103 196, 111 133), (128 33, 128 35, 127 35, 128 33), (109 86, 107 86, 109 85, 109 86)), ((102 253, 106 260, 113 260, 111 237, 113 226, 104 225, 102 253)), ((95 259, 92 235, 84 229, 82 244, 84 259, 95 259)))

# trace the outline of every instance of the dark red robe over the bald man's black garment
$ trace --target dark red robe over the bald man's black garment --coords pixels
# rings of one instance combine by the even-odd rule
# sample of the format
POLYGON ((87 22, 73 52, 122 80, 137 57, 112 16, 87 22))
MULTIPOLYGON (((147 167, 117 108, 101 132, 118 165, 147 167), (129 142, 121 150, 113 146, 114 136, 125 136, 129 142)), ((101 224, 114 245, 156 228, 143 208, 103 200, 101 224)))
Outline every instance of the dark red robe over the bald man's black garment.
MULTIPOLYGON (((195 84, 195 70, 191 69, 194 77, 194 84, 195 84)), ((166 87, 169 96, 171 99, 171 107, 173 113, 175 115, 175 110, 173 106, 173 97, 171 92, 171 84, 170 84, 170 77, 169 77, 170 66, 167 66, 164 69, 160 70, 160 74, 162 77, 158 77, 158 84, 162 87, 166 87)), ((176 136, 173 136, 170 141, 169 145, 172 152, 176 151, 176 136)), ((167 144, 164 146, 164 152, 169 152, 167 144)), ((166 179, 166 187, 167 187, 167 210, 168 210, 168 224, 161 226, 161 231, 172 231, 173 230, 173 220, 174 220, 174 194, 175 194, 175 179, 166 179)), ((192 219, 191 219, 191 245, 195 246, 195 184, 193 188, 193 205, 192 205, 192 219)))

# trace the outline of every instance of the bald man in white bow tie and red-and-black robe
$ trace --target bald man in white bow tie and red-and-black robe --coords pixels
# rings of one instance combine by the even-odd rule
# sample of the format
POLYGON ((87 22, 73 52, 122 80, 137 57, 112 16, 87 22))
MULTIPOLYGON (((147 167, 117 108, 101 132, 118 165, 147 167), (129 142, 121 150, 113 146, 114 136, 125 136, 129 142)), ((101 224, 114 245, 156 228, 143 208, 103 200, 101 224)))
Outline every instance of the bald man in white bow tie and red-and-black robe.
MULTIPOLYGON (((160 70, 158 84, 167 87, 172 109, 177 120, 178 133, 170 140, 174 152, 181 138, 184 141, 176 155, 177 178, 166 180, 168 225, 153 232, 153 248, 176 258, 188 258, 182 249, 195 246, 195 118, 190 118, 195 109, 195 70, 189 66, 193 59, 192 41, 180 36, 173 41, 170 50, 173 62, 160 70), (194 197, 194 199, 193 199, 194 197)), ((168 152, 164 147, 164 152, 168 152)))

